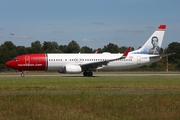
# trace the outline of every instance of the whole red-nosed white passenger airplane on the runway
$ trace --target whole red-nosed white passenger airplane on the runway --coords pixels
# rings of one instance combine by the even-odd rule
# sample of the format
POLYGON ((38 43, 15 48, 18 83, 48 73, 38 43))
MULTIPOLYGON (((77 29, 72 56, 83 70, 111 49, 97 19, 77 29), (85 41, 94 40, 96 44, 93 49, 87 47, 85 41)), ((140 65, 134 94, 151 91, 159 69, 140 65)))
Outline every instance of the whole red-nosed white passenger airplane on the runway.
MULTIPOLYGON (((138 50, 123 53, 38 53, 14 57, 6 66, 18 70, 24 77, 24 71, 42 70, 59 71, 59 73, 82 73, 93 76, 95 70, 131 69, 159 61, 160 47, 163 42, 166 25, 162 24, 138 50)), ((166 55, 164 55, 166 56, 166 55)))

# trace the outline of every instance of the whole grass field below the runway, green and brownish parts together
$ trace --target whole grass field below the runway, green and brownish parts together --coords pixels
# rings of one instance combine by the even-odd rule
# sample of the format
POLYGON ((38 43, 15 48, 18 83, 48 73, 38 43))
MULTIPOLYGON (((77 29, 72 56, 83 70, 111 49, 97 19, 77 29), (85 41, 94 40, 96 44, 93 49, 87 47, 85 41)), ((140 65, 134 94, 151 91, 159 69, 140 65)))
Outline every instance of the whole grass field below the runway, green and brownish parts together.
POLYGON ((0 120, 180 119, 180 78, 0 78, 0 120))

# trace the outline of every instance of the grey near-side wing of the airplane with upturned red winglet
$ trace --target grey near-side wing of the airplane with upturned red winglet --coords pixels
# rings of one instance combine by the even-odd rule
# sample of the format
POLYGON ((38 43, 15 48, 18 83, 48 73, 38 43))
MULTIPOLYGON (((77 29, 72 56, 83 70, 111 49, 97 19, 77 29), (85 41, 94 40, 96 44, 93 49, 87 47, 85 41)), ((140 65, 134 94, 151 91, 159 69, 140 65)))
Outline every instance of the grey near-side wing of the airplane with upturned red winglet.
POLYGON ((88 64, 81 64, 80 66, 83 70, 96 69, 97 67, 102 67, 102 65, 107 65, 109 62, 126 58, 128 53, 130 52, 130 50, 131 50, 131 47, 128 47, 127 50, 124 52, 124 54, 119 58, 105 60, 105 61, 97 61, 97 62, 92 62, 92 63, 88 63, 88 64))

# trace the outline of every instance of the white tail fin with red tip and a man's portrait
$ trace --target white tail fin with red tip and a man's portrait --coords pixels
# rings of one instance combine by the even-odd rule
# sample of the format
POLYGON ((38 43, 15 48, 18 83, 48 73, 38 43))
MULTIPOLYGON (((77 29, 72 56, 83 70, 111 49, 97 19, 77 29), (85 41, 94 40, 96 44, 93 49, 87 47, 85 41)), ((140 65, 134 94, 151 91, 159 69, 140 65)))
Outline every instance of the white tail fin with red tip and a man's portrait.
POLYGON ((159 55, 165 29, 166 29, 166 25, 160 25, 158 29, 151 35, 151 37, 146 41, 146 43, 140 49, 135 50, 131 53, 159 55))

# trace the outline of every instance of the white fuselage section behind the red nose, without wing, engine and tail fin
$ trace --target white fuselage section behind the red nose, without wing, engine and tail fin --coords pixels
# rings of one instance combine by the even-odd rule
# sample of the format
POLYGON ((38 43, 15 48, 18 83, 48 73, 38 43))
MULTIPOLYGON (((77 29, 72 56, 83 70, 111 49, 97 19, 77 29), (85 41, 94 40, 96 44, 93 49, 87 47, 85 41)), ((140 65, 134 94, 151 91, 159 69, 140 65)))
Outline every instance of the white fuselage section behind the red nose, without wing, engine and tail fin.
MULTIPOLYGON (((66 65, 85 65, 89 63, 116 59, 122 54, 47 54, 47 70, 63 70, 66 65)), ((98 70, 122 70, 140 67, 156 62, 160 57, 153 59, 148 54, 131 54, 125 59, 109 62, 107 65, 97 67, 98 70)))

